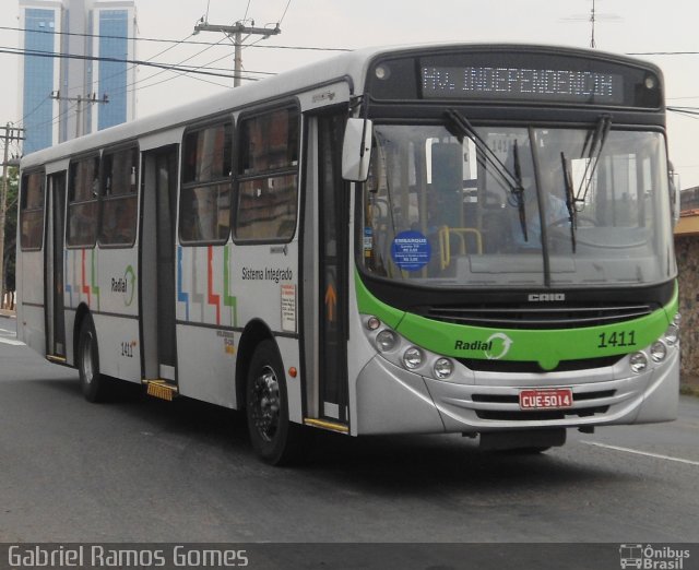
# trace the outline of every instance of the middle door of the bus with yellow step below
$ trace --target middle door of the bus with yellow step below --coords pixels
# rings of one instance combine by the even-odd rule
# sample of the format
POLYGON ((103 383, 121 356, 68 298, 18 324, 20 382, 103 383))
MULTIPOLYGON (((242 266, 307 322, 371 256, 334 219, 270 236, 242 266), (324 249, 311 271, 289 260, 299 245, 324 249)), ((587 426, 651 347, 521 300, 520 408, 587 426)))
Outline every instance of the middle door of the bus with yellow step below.
POLYGON ((175 227, 179 145, 143 153, 141 222, 141 339, 149 393, 176 391, 175 227))

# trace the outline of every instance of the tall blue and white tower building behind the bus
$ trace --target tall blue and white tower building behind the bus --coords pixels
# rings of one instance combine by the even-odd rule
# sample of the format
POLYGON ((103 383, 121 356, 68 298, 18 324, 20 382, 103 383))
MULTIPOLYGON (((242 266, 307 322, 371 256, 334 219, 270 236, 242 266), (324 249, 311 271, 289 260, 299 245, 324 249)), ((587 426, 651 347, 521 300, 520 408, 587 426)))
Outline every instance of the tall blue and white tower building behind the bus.
POLYGON ((20 27, 27 51, 78 56, 23 58, 24 154, 135 118, 133 0, 20 0, 20 27))

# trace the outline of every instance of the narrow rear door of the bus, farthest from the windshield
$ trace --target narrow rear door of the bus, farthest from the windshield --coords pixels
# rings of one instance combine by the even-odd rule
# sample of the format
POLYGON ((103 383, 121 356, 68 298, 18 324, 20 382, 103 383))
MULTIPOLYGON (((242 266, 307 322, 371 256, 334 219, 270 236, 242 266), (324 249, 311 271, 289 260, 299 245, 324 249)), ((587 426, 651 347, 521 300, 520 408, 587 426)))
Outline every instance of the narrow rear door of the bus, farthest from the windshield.
POLYGON ((66 171, 48 176, 47 242, 44 248, 46 294, 46 355, 66 361, 63 307, 63 236, 66 235, 66 171))

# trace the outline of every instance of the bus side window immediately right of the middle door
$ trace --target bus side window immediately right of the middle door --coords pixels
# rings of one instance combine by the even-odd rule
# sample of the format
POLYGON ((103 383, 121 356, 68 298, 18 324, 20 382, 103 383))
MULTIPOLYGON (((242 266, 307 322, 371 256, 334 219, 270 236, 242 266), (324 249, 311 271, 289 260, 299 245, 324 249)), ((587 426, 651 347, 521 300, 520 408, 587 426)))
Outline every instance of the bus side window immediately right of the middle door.
POLYGON ((233 126, 185 134, 179 236, 183 244, 225 241, 230 233, 233 126))

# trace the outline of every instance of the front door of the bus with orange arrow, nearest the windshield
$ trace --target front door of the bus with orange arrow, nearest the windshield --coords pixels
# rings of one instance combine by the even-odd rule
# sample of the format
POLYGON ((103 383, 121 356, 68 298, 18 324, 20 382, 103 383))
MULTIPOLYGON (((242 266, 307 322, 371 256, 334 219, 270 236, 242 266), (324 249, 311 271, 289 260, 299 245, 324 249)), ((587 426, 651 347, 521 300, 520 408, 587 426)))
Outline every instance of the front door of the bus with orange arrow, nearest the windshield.
POLYGON ((308 170, 304 237, 304 336, 308 409, 312 417, 348 424, 347 287, 350 192, 342 178, 342 138, 346 107, 308 120, 308 170), (317 191, 313 191, 313 188, 317 191), (317 260, 317 263, 310 263, 317 260), (311 269, 312 266, 312 269, 311 269), (309 278, 308 273, 317 273, 309 278), (311 332, 311 329, 315 329, 311 332), (310 343, 309 340, 313 339, 310 343), (312 344, 312 348, 308 346, 312 344))

